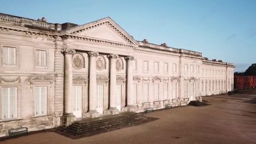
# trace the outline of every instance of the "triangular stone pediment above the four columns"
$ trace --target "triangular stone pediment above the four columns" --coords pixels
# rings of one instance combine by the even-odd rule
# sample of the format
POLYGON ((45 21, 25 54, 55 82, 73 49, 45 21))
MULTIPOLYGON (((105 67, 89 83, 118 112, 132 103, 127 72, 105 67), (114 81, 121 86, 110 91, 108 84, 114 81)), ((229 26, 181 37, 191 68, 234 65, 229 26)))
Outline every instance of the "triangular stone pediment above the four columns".
POLYGON ((136 46, 137 42, 111 18, 69 28, 65 34, 136 46))

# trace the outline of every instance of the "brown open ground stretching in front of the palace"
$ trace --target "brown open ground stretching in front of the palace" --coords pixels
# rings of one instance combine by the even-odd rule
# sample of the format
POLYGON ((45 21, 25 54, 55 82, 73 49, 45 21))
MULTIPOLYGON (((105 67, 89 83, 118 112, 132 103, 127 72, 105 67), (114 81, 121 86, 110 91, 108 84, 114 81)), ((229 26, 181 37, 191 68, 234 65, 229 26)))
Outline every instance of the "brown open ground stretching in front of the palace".
POLYGON ((91 137, 44 132, 0 143, 256 143, 256 90, 203 100, 211 105, 154 111, 146 116, 159 120, 91 137))

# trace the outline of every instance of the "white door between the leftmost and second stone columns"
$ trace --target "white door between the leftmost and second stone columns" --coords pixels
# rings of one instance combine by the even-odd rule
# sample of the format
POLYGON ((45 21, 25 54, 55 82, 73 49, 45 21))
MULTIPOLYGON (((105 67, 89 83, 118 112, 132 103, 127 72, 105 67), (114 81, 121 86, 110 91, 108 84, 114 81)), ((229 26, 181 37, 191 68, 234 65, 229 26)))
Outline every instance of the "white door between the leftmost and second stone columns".
POLYGON ((73 115, 82 117, 82 86, 73 86, 73 115))

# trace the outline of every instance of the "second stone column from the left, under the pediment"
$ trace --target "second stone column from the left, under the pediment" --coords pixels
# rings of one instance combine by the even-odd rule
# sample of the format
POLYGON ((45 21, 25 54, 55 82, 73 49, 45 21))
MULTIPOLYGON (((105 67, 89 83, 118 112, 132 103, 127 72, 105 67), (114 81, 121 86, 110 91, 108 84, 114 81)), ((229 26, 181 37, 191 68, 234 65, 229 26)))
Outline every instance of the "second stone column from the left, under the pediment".
POLYGON ((99 55, 97 52, 88 52, 89 55, 89 111, 87 117, 99 117, 100 114, 96 111, 96 57, 99 55))

